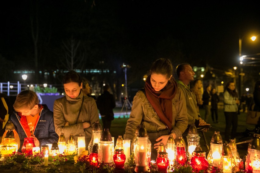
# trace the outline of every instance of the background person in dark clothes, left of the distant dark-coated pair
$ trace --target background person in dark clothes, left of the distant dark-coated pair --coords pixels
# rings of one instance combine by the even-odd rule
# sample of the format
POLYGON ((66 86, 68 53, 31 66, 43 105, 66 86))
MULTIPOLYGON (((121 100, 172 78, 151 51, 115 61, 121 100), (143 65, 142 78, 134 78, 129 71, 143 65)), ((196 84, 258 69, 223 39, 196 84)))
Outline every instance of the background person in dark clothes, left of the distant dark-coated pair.
POLYGON ((205 108, 205 121, 208 122, 208 117, 210 115, 210 109, 211 109, 211 85, 206 86, 206 90, 203 92, 202 100, 203 105, 205 108))

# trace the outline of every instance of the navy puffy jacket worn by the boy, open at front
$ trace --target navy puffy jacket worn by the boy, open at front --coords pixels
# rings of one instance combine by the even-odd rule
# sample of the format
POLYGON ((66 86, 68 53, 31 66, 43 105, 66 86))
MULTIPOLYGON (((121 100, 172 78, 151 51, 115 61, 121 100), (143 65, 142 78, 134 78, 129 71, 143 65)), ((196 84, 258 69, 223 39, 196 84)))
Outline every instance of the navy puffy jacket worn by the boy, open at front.
MULTIPOLYGON (((40 104, 39 104, 40 106, 40 104)), ((59 136, 55 132, 55 127, 53 123, 53 112, 49 110, 46 104, 43 104, 43 109, 40 112, 40 117, 38 119, 38 122, 36 124, 34 135, 40 142, 40 148, 42 145, 46 145, 47 143, 53 143, 54 141, 58 141, 59 136)), ((27 134, 24 132, 24 129, 29 128, 29 126, 24 127, 21 123, 21 118, 18 112, 14 112, 13 115, 10 117, 10 121, 13 122, 15 126, 15 130, 19 135, 21 146, 18 149, 19 152, 21 152, 21 148, 23 145, 23 139, 30 137, 27 136, 27 134)))

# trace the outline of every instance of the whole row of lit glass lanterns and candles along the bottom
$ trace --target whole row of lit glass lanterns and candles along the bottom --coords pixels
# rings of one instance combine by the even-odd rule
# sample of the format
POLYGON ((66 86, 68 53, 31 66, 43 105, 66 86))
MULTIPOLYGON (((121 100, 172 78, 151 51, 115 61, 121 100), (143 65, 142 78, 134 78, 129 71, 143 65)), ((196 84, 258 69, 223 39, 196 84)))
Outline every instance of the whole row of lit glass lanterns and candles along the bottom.
MULTIPOLYGON (((14 128, 6 129, 6 135, 0 144, 1 160, 9 157, 13 151, 17 152, 18 143, 16 142, 14 128)), ((19 136, 18 136, 19 138, 19 136)), ((237 172, 244 169, 244 164, 241 162, 237 152, 237 146, 234 140, 229 144, 224 144, 219 132, 211 138, 211 146, 209 154, 206 158, 205 152, 202 151, 199 145, 200 137, 198 136, 195 125, 191 125, 187 136, 187 149, 185 141, 182 137, 174 139, 172 135, 168 138, 167 145, 160 144, 156 164, 158 170, 163 172, 171 172, 176 164, 190 163, 196 171, 207 170, 208 173, 214 169, 220 169, 223 173, 237 172)), ((20 140, 19 140, 20 142, 20 140)), ((260 173, 260 136, 254 134, 251 143, 248 146, 248 154, 245 163, 245 171, 247 173, 260 173)), ((150 167, 151 142, 148 138, 148 133, 145 126, 139 125, 135 131, 135 137, 130 140, 123 140, 122 136, 118 136, 116 147, 114 147, 113 137, 108 129, 102 131, 102 127, 97 121, 92 129, 92 138, 88 145, 88 151, 91 151, 89 157, 93 163, 99 164, 114 164, 116 168, 123 169, 125 161, 130 157, 130 148, 134 154, 135 172, 148 171, 150 167)), ((48 165, 48 155, 56 155, 66 153, 69 155, 80 155, 85 150, 85 136, 79 136, 77 142, 74 140, 73 134, 70 135, 66 143, 63 134, 60 135, 58 143, 42 146, 42 153, 45 154, 45 165, 48 165), (49 151, 49 148, 51 150, 49 151), (46 164, 47 162, 47 164, 46 164)), ((22 152, 36 154, 40 152, 39 147, 35 147, 33 138, 25 138, 22 152)))

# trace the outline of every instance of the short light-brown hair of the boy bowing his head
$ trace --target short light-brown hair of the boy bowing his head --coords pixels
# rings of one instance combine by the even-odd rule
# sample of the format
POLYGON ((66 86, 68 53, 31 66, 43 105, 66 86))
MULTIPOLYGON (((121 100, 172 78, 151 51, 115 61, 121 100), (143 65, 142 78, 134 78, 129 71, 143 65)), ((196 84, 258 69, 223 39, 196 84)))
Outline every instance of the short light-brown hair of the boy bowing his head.
POLYGON ((36 104, 39 104, 37 94, 31 90, 24 90, 17 95, 13 108, 15 111, 20 109, 31 110, 36 104))

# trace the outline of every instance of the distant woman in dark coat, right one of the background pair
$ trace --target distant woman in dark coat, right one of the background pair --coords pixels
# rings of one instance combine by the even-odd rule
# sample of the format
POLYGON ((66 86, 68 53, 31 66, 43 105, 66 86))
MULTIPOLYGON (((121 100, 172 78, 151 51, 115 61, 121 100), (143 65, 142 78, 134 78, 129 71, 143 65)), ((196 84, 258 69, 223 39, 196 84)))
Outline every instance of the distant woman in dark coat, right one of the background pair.
POLYGON ((215 124, 218 124, 218 102, 219 102, 219 97, 218 97, 218 94, 216 93, 216 89, 215 88, 212 88, 211 89, 211 118, 212 118, 212 121, 215 123, 215 124), (214 118, 214 114, 215 114, 215 118, 214 118))

